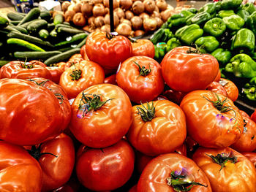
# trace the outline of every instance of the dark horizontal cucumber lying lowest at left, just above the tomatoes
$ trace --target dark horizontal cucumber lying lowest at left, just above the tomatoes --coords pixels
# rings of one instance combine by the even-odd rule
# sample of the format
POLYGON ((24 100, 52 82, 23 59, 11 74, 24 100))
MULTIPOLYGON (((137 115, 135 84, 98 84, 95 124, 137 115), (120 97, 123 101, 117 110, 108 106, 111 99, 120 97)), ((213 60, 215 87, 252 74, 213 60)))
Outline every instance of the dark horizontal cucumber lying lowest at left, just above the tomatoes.
POLYGON ((53 57, 54 55, 59 55, 61 52, 60 51, 45 51, 45 52, 40 52, 40 51, 16 51, 14 53, 15 58, 28 58, 28 59, 42 59, 45 60, 47 58, 53 57))

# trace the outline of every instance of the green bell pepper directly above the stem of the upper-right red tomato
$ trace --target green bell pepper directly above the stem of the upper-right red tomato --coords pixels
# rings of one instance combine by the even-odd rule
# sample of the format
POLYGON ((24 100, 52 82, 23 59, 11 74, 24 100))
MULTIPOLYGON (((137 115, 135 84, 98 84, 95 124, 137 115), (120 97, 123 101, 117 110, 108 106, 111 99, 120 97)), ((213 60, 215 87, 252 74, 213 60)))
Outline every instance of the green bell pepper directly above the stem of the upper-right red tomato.
POLYGON ((198 47, 203 46, 203 49, 205 49, 208 53, 213 52, 217 49, 217 47, 219 47, 219 42, 213 36, 200 37, 195 41, 195 44, 198 47))

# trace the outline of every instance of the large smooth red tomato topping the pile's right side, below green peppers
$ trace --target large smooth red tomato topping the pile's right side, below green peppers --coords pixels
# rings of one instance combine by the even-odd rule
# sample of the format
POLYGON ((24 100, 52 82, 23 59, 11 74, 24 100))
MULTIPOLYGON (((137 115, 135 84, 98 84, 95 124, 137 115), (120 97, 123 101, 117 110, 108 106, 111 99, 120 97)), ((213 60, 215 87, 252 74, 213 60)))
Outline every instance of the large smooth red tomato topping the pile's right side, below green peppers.
POLYGON ((187 50, 187 47, 174 48, 161 62, 162 76, 167 85, 184 93, 205 89, 219 72, 219 64, 214 56, 186 53, 187 50))

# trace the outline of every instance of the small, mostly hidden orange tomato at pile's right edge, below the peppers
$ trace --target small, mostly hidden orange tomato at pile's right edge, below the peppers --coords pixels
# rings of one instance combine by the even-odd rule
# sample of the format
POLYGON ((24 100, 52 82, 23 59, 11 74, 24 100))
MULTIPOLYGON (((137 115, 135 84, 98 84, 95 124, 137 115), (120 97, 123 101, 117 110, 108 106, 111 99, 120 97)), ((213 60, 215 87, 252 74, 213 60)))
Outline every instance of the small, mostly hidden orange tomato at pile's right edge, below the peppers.
POLYGON ((232 101, 236 101, 236 99, 238 99, 238 88, 236 87, 235 83, 230 80, 220 78, 219 84, 225 88, 229 99, 232 101))

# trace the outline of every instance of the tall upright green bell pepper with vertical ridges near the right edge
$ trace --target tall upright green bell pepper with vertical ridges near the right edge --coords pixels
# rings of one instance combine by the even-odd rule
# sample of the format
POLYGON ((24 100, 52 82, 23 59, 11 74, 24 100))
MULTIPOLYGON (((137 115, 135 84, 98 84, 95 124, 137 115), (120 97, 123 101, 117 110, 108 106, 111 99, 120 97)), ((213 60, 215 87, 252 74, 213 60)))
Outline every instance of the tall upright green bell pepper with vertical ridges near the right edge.
POLYGON ((231 45, 231 50, 240 50, 240 53, 253 52, 255 50, 255 34, 248 28, 241 28, 231 45))

